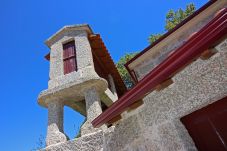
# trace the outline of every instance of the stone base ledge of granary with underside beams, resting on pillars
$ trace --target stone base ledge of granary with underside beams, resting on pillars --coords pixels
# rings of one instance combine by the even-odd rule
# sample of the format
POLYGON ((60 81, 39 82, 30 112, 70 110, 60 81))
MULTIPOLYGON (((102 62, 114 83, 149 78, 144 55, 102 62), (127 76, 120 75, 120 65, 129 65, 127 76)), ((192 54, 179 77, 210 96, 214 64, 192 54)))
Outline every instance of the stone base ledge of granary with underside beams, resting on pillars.
POLYGON ((108 83, 98 76, 93 67, 79 69, 64 76, 58 76, 49 81, 49 88, 38 96, 38 103, 47 107, 48 102, 62 101, 64 105, 73 108, 82 115, 86 115, 83 91, 91 86, 100 93, 101 101, 110 106, 116 98, 111 95, 108 83))

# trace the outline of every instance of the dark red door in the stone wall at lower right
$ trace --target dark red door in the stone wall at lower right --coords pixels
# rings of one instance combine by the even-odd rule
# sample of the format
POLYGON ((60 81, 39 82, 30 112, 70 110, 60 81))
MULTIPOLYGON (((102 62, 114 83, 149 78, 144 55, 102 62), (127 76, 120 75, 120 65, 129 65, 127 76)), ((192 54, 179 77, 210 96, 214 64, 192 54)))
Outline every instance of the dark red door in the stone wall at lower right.
POLYGON ((181 121, 199 151, 227 151, 227 97, 181 121))

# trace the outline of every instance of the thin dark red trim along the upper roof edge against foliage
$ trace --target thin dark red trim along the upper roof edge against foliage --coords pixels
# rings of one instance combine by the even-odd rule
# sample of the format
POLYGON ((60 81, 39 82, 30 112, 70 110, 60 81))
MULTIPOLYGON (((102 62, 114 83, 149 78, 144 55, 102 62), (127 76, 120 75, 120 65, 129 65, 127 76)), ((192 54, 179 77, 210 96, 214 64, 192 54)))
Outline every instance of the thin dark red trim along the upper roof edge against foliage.
MULTIPOLYGON (((145 48, 143 51, 141 51, 140 53, 138 53, 137 55, 135 55, 135 57, 133 57, 131 60, 129 60, 126 64, 125 67, 128 70, 129 73, 130 69, 128 67, 128 65, 130 63, 132 63, 134 60, 136 60, 138 57, 142 56, 145 52, 147 52, 148 50, 150 50, 152 47, 154 47, 155 45, 157 45, 159 42, 161 42, 163 39, 165 39, 166 37, 168 37, 170 34, 172 34, 174 31, 176 31, 177 29, 179 29, 180 27, 182 27, 184 24, 186 24, 187 22, 189 22, 190 20, 192 20, 195 16, 197 16, 198 14, 200 14, 202 11, 204 11, 206 8, 208 8, 210 5, 212 5, 213 3, 215 3, 217 0, 211 0, 209 2, 207 2, 205 5, 203 5, 200 9, 198 9, 197 11, 195 11, 192 15, 190 15, 188 18, 186 18, 185 20, 183 20, 181 23, 179 23, 178 25, 176 25, 173 29, 169 30, 167 33, 165 33, 163 36, 161 36, 158 40, 156 40, 154 43, 152 43, 151 45, 149 45, 147 48, 145 48)), ((130 74, 133 79, 135 79, 135 77, 130 74)))

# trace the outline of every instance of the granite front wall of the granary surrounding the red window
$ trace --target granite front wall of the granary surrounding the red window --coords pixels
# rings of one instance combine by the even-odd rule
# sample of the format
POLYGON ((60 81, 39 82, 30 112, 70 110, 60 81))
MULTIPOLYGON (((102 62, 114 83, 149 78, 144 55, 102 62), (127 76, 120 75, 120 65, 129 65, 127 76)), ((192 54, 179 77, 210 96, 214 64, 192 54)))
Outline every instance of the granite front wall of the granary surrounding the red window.
MULTIPOLYGON (((75 41, 76 58, 78 70, 88 66, 93 67, 93 59, 91 54, 91 47, 87 39, 86 31, 70 31, 64 32, 58 37, 56 42, 51 46, 50 50, 50 80, 48 82, 49 88, 53 88, 64 84, 63 81, 71 80, 72 76, 65 76, 63 69, 63 44, 69 41, 75 41), (86 55, 86 57, 85 57, 86 55), (84 59, 86 58, 86 59, 84 59), (61 80, 61 79, 64 80, 61 80), (68 80, 67 80, 68 79, 68 80), (62 83, 63 82, 63 83, 62 83)), ((94 70, 94 69, 93 69, 94 70)), ((75 71, 76 72, 76 71, 75 71)), ((82 71, 81 71, 82 72, 82 71)), ((79 77, 81 72, 74 73, 79 77)))

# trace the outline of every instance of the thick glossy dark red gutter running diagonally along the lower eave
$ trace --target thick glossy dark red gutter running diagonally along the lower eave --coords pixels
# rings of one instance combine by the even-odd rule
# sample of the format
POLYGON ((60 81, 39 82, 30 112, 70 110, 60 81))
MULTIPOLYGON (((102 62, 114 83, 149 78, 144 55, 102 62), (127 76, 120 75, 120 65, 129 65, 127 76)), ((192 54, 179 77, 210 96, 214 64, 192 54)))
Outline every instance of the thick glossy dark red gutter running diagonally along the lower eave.
POLYGON ((143 98, 155 86, 168 79, 188 62, 195 59, 218 39, 227 34, 227 8, 193 35, 166 60, 146 75, 134 88, 112 104, 105 112, 92 121, 94 127, 107 123, 127 110, 131 104, 143 98))

